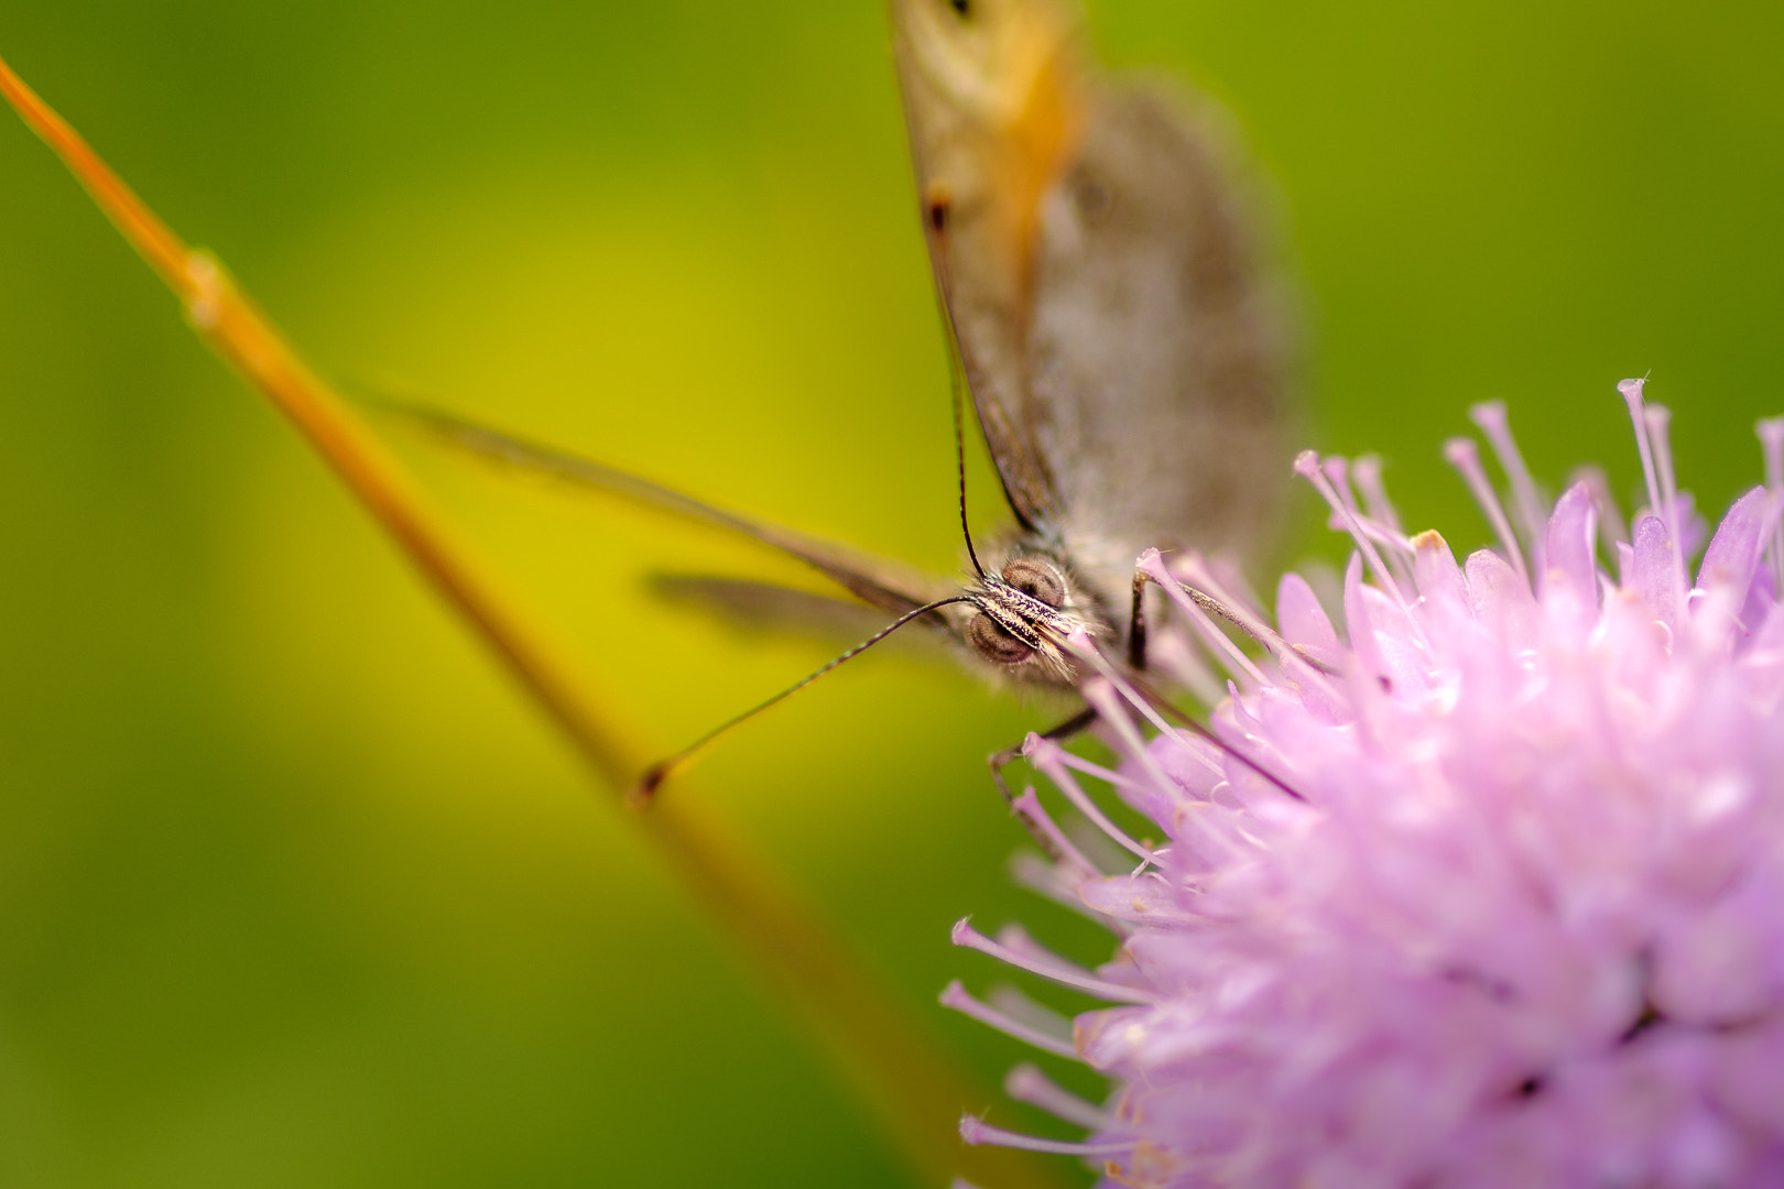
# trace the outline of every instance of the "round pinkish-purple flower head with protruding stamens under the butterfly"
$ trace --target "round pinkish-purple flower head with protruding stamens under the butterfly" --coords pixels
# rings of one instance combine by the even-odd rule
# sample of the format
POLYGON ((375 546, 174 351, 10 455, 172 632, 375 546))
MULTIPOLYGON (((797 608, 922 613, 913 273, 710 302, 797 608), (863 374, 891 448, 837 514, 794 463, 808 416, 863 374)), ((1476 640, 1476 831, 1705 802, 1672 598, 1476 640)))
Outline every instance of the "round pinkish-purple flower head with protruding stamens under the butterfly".
POLYGON ((1511 501, 1450 446, 1500 538, 1459 565, 1399 529, 1370 463, 1297 463, 1356 538, 1343 635, 1297 574, 1270 627, 1197 558, 1142 558, 1227 697, 1185 731, 1104 667, 1088 697, 1120 768, 1028 747, 1095 829, 1020 802, 1060 850, 1028 881, 1117 955, 954 931, 1108 1005, 944 995, 1111 1096, 1022 1066, 1010 1093, 1088 1137, 967 1118, 969 1143, 1076 1153, 1111 1185, 1784 1185, 1784 424, 1693 579, 1666 414, 1622 387, 1648 480, 1627 538, 1591 480, 1545 517, 1483 406, 1511 501))

